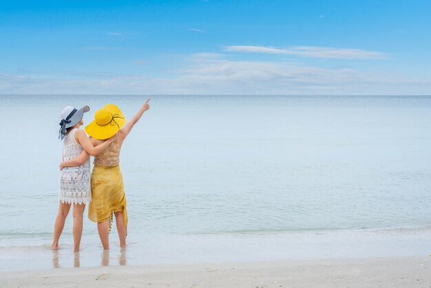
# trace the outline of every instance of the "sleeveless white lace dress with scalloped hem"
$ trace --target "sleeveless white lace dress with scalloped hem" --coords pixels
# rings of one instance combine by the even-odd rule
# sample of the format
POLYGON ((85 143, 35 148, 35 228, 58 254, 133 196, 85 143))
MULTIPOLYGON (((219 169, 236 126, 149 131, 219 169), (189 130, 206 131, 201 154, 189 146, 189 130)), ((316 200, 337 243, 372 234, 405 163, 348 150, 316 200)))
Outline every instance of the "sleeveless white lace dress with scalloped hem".
MULTIPOLYGON (((75 132, 76 129, 63 138, 64 161, 78 157, 83 151, 83 147, 75 141, 75 132)), ((59 194, 61 203, 90 203, 92 200, 90 175, 90 158, 81 166, 65 167, 61 170, 59 194)))

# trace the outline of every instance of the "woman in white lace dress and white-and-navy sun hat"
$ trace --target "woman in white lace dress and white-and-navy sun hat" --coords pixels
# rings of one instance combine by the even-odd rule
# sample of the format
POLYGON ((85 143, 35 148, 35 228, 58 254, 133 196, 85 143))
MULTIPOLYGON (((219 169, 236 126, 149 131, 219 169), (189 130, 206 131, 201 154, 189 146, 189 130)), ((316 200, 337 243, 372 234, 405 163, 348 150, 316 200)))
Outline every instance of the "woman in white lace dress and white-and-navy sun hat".
MULTIPOLYGON (((94 147, 87 134, 79 127, 83 125, 83 114, 88 112, 90 107, 84 106, 80 110, 74 109, 72 106, 67 106, 61 112, 61 129, 60 138, 63 140, 63 160, 76 158, 85 151, 90 155, 97 155, 116 140, 116 135, 109 138, 105 143, 94 147)), ((59 214, 57 214, 54 226, 54 240, 52 249, 59 248, 59 238, 67 214, 69 214, 70 206, 74 205, 73 209, 73 236, 74 236, 74 251, 79 251, 81 236, 83 232, 83 214, 85 205, 90 203, 90 160, 79 163, 76 167, 65 167, 61 169, 60 176, 60 192, 59 192, 59 214)))

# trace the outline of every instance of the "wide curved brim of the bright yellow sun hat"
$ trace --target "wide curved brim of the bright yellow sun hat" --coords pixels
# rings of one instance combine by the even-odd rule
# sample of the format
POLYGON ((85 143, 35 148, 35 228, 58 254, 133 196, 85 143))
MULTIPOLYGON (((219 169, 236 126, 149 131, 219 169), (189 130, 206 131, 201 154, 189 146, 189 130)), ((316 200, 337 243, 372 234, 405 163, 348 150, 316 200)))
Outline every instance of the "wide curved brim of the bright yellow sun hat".
POLYGON ((96 123, 96 120, 85 126, 85 132, 87 132, 87 134, 92 136, 93 138, 99 140, 105 140, 114 136, 116 132, 118 132, 127 122, 125 116, 123 115, 121 110, 116 107, 116 105, 108 104, 105 105, 104 108, 112 114, 118 115, 118 117, 115 117, 112 123, 109 123, 105 126, 98 125, 96 123))

